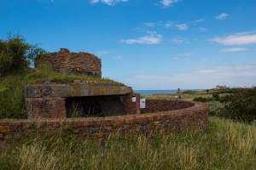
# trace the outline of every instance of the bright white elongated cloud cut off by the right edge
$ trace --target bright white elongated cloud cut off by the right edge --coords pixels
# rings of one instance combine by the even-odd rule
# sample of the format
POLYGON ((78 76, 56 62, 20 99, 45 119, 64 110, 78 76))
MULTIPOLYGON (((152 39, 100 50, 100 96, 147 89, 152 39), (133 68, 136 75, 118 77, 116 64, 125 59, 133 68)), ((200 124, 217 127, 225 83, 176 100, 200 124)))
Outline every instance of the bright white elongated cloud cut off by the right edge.
POLYGON ((250 43, 256 43, 256 34, 253 32, 240 32, 228 37, 214 37, 209 39, 211 42, 218 42, 224 45, 246 45, 250 43))

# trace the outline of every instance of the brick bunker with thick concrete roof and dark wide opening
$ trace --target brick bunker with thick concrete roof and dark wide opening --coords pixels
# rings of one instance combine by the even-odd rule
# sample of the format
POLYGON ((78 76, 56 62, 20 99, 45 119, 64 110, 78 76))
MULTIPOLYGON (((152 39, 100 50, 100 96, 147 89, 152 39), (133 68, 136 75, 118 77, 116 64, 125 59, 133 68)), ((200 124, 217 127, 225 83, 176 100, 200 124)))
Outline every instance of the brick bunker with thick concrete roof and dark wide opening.
POLYGON ((79 81, 25 88, 26 112, 32 118, 123 116, 140 113, 139 94, 119 82, 79 81), (132 97, 136 101, 132 101, 132 97))

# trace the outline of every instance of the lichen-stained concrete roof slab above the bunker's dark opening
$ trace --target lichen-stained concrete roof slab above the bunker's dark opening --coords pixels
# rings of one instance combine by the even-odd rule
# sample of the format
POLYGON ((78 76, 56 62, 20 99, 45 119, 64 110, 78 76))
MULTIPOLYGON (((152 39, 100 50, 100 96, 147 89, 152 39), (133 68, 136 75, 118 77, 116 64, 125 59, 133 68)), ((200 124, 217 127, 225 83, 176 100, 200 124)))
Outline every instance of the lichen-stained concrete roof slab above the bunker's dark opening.
POLYGON ((25 88, 25 98, 66 98, 96 95, 131 94, 131 87, 92 85, 83 82, 69 84, 42 84, 25 88))

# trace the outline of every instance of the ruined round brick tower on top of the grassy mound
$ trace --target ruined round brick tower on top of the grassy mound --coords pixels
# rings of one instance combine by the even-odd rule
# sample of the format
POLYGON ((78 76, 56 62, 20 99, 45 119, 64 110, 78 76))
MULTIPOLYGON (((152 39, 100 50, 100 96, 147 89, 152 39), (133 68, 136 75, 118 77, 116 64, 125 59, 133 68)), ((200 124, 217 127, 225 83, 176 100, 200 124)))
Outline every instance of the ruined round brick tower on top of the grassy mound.
POLYGON ((67 48, 61 48, 58 53, 50 53, 35 59, 35 67, 41 64, 51 65, 55 71, 67 74, 84 73, 93 77, 102 77, 101 59, 94 54, 84 52, 70 53, 67 48))

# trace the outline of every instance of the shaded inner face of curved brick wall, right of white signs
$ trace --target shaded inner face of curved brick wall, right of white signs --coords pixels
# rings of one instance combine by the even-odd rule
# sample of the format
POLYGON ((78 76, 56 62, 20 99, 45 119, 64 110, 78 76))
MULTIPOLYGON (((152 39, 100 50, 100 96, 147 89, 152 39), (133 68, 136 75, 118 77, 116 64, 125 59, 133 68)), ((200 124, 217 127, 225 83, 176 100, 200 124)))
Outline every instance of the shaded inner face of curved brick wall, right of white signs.
POLYGON ((147 99, 144 112, 173 111, 192 107, 193 105, 195 105, 195 103, 184 100, 147 99))

